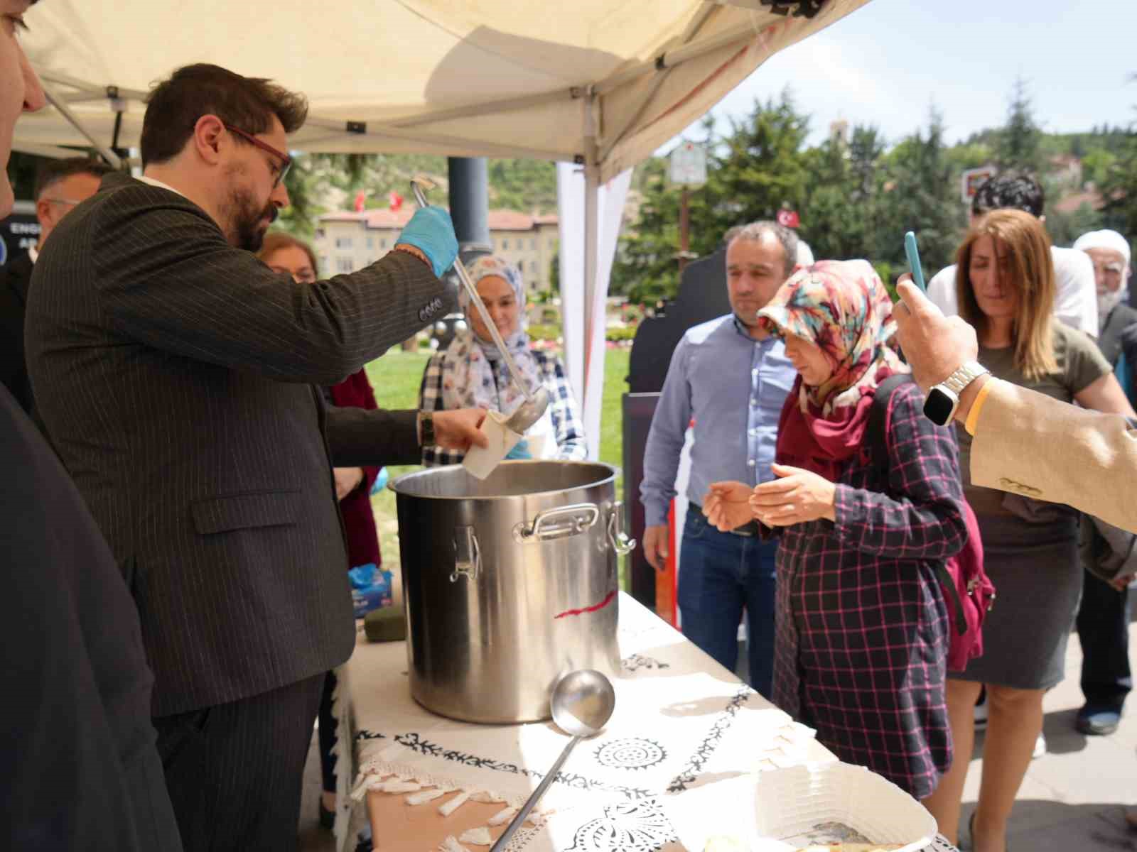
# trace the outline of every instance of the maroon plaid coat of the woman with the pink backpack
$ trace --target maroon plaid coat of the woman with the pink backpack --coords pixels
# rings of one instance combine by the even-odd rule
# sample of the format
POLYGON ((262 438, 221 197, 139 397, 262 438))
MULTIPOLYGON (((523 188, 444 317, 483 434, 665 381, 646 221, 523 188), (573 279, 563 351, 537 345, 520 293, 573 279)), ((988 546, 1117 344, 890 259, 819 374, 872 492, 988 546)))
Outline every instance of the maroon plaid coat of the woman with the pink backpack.
POLYGON ((887 483, 866 445, 839 478, 837 521, 783 531, 774 660, 775 703, 918 799, 952 761, 947 609, 931 565, 966 537, 955 438, 922 406, 914 384, 893 395, 887 483))

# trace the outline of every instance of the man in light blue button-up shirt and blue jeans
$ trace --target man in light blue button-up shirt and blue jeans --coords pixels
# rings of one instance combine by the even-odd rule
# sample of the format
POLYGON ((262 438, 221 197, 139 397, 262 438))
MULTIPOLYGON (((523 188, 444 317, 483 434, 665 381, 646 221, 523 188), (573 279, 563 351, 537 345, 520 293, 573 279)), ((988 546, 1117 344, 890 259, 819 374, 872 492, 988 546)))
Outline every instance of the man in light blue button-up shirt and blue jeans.
POLYGON ((652 418, 644 454, 645 556, 657 570, 667 559, 667 509, 687 427, 695 420, 690 507, 683 526, 679 612, 683 634, 731 671, 738 624, 747 612, 750 685, 772 695, 775 542, 750 521, 720 533, 703 516, 713 482, 757 485, 773 479, 782 403, 797 371, 757 312, 797 268, 797 236, 771 222, 727 233, 727 290, 732 314, 690 328, 675 348, 652 418))

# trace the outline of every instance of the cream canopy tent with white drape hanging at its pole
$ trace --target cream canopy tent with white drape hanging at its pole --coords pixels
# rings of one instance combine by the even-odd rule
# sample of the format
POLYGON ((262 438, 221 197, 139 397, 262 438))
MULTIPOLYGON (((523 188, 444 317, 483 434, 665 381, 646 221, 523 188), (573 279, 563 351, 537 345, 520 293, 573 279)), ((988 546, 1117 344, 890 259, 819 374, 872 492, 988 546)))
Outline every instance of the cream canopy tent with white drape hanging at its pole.
POLYGON ((565 164, 565 357, 595 456, 604 299, 628 189, 613 178, 770 56, 865 2, 50 0, 27 14, 24 45, 52 106, 20 119, 14 148, 93 145, 117 159, 113 147, 138 144, 149 86, 201 61, 306 93, 296 150, 565 164))

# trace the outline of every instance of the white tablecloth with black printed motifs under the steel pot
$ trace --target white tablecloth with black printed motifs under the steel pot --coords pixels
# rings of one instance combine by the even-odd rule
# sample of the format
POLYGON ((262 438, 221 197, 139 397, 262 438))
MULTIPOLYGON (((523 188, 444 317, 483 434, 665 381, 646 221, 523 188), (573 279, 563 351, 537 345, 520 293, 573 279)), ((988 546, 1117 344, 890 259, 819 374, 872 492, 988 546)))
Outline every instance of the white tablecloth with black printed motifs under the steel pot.
MULTIPOLYGON (((634 599, 621 593, 619 605, 623 671, 614 683, 612 720, 576 746, 546 793, 537 824, 514 835, 511 852, 659 850, 675 841, 661 796, 715 778, 836 759, 812 730, 634 599)), ((342 812, 392 782, 447 791, 408 807, 434 809, 463 795, 516 807, 567 743, 551 722, 489 726, 435 716, 410 698, 406 673, 405 643, 363 637, 340 671, 341 741, 355 742, 341 757, 350 766, 343 775, 355 779, 354 796, 341 799, 342 812)), ((345 825, 341 813, 341 836, 345 825)))

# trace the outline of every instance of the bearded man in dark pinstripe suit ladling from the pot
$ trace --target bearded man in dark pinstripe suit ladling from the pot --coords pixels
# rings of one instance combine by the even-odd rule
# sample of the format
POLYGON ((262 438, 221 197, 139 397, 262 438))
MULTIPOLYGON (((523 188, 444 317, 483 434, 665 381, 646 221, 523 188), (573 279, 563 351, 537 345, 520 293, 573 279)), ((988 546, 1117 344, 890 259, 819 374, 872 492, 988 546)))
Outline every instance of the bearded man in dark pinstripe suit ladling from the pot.
POLYGON ((268 81, 175 72, 150 94, 144 176, 108 176, 60 223, 27 304, 47 432, 139 609, 186 850, 296 846, 324 673, 355 640, 332 463, 468 446, 483 416, 325 410, 313 385, 449 309, 457 241, 428 208, 351 275, 296 284, 257 260, 306 111, 268 81))

